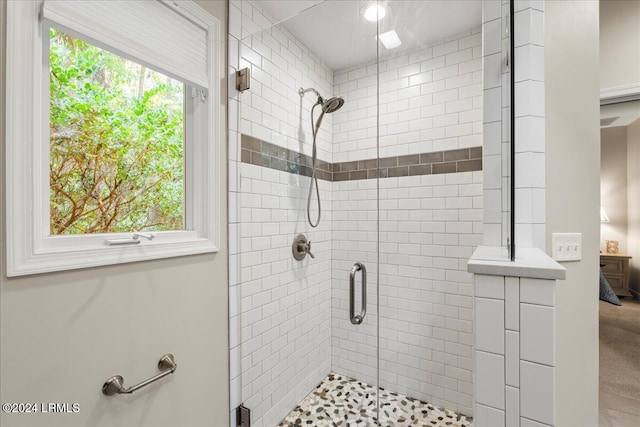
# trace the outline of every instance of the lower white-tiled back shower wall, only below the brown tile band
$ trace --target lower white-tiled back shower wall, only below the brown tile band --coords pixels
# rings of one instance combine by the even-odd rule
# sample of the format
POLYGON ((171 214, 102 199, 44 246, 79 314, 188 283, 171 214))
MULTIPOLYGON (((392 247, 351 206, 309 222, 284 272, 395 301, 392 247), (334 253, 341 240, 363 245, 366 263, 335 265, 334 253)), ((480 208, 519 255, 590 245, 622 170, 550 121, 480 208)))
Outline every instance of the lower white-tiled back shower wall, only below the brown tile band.
MULTIPOLYGON (((334 183, 331 354, 334 371, 376 384, 372 193, 375 180, 334 183), (368 313, 359 326, 348 320, 355 261, 369 269, 368 313)), ((466 263, 481 236, 481 171, 380 180, 381 387, 472 414, 473 293, 466 263)))

